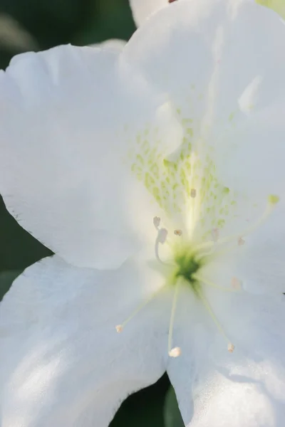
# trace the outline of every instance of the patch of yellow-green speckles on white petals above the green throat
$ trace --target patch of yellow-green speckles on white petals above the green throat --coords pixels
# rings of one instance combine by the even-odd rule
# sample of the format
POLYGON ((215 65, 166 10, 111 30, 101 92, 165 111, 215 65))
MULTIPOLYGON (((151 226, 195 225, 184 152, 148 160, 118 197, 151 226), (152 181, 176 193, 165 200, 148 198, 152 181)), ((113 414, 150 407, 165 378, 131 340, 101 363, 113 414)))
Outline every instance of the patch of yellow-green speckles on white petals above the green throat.
MULTIPOLYGON (((177 113, 181 115, 180 109, 177 113)), ((194 200, 191 190, 196 189, 196 214, 199 223, 206 228, 203 238, 208 238, 212 228, 222 228, 227 216, 234 214, 237 200, 230 189, 217 180, 213 148, 202 142, 199 150, 195 149, 197 136, 192 118, 180 117, 180 121, 185 136, 175 157, 165 158, 157 132, 147 127, 136 135, 135 144, 131 142, 130 167, 170 217, 173 214, 191 215, 194 200)))

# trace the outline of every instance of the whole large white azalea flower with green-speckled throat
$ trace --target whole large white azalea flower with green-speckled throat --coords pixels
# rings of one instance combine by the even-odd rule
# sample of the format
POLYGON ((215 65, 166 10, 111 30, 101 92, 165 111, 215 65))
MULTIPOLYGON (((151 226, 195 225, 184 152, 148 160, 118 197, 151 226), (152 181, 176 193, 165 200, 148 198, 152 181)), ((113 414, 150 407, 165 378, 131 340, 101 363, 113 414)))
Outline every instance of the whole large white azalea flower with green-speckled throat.
POLYGON ((0 191, 56 253, 1 302, 1 426, 108 426, 165 370, 186 426, 284 425, 284 71, 274 12, 181 0, 1 73, 0 191))

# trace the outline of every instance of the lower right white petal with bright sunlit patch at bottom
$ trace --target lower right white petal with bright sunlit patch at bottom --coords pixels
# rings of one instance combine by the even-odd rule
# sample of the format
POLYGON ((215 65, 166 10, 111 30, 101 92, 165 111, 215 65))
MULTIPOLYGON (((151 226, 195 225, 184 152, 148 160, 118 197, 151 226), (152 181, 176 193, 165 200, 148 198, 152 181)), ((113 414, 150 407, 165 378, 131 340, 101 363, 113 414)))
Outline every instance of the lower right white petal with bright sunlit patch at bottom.
POLYGON ((236 348, 233 354, 227 352, 227 340, 217 334, 207 312, 204 319, 207 329, 197 321, 191 331, 189 327, 177 330, 178 342, 182 339, 184 344, 184 358, 170 359, 167 372, 185 424, 283 426, 283 298, 247 294, 229 297, 214 290, 207 292, 207 299, 236 348))

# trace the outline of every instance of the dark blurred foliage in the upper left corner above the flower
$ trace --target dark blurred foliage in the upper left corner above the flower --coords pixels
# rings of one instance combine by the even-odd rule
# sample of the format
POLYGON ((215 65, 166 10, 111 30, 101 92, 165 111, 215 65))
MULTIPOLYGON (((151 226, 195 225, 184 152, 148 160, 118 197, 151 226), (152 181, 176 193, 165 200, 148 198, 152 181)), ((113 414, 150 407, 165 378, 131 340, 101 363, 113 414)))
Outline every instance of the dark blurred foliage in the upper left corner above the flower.
POLYGON ((0 0, 0 68, 16 53, 128 40, 133 31, 128 0, 0 0))

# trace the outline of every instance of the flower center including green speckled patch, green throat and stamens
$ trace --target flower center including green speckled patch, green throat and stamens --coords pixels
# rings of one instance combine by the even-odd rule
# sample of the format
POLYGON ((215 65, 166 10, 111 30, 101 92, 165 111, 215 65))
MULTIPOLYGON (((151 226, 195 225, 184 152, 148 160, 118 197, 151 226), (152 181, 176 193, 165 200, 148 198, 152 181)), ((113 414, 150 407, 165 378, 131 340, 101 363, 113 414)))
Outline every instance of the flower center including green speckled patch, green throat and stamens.
MULTIPOLYGON (((177 113, 180 114, 178 111, 177 113)), ((165 272, 165 283, 143 301, 127 320, 117 325, 116 330, 122 332, 123 327, 161 290, 172 288, 168 354, 170 357, 179 356, 180 347, 172 347, 172 332, 182 285, 194 292, 197 303, 204 306, 227 340, 228 351, 232 353, 234 345, 207 300, 206 288, 210 286, 226 292, 239 292, 242 290, 242 283, 236 277, 232 277, 226 287, 213 283, 211 277, 206 277, 203 266, 209 262, 214 263, 223 253, 228 253, 237 246, 244 246, 244 238, 264 223, 279 197, 269 195, 264 213, 256 219, 258 205, 219 182, 212 159, 214 148, 207 147, 199 137, 197 141, 194 140, 192 119, 182 119, 182 125, 183 123, 185 137, 180 149, 167 158, 164 156, 162 139, 155 130, 153 135, 150 135, 148 128, 139 132, 135 144, 130 147, 130 169, 152 196, 167 222, 165 228, 161 226, 160 217, 155 216, 152 220, 157 230, 154 254, 159 267, 165 272), (247 211, 253 211, 254 218, 250 218, 251 214, 248 216, 247 211), (242 226, 244 221, 247 224, 245 229, 242 226), (170 223, 181 228, 172 228, 170 223), (237 229, 237 233, 231 236, 224 236, 228 224, 235 229, 236 223, 237 228, 242 226, 243 229, 237 229)))

